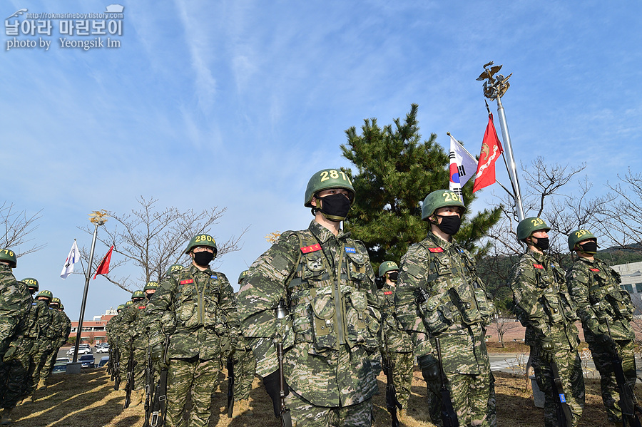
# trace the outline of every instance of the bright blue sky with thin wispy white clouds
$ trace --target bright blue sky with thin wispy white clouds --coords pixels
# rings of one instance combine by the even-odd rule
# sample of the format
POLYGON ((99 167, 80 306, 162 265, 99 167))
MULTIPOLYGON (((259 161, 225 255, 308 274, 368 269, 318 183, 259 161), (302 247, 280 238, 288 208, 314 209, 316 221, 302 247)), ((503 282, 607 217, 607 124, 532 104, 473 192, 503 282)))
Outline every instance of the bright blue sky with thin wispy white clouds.
MULTIPOLYGON (((108 4, 11 0, 0 11, 99 13, 108 4)), ((14 272, 39 279, 74 320, 84 279, 58 274, 74 238, 91 244, 77 228, 88 213, 128 212, 141 195, 158 207, 227 207, 210 230, 217 240, 250 226, 243 249, 218 263, 235 282, 269 247, 265 235, 307 227, 308 178, 350 166, 339 145, 365 118, 392 123, 418 103, 425 138, 437 133, 448 148, 451 132, 478 154, 487 116, 475 78, 488 61, 514 73, 502 101, 518 162, 586 162, 596 194, 641 168, 637 1, 118 4, 119 48, 62 48, 55 20, 48 51, 8 51, 13 38, 1 34, 0 202, 42 210, 31 237, 46 244, 14 272)), ((126 299, 92 280, 85 317, 126 299)))

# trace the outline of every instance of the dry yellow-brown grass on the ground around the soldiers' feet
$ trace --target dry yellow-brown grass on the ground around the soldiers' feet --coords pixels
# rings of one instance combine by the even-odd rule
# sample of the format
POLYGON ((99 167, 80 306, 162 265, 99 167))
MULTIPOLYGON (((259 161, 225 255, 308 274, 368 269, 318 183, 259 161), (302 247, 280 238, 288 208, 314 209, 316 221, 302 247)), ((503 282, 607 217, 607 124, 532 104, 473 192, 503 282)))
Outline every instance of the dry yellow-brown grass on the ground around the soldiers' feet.
MULTIPOLYGON (((500 427, 530 427, 544 425, 544 411, 535 408, 530 391, 526 390, 523 376, 495 373, 497 418, 500 427)), ((642 397, 638 387, 638 398, 642 397)), ((385 377, 379 376, 379 390, 374 396, 375 427, 390 426, 390 416, 385 406, 385 377)), ((78 375, 52 375, 48 387, 36 391, 36 401, 18 406, 14 411, 12 426, 16 427, 133 427, 143 424, 143 407, 123 410, 125 391, 113 391, 113 383, 104 369, 93 369, 78 375)), ((412 396, 409 402, 407 427, 432 427, 426 411, 426 386, 421 372, 414 371, 412 396)), ((230 420, 227 416, 213 417, 210 426, 277 427, 272 413, 272 403, 260 382, 255 379, 250 394, 254 415, 230 420)), ((213 401, 213 408, 225 406, 225 395, 220 393, 213 401)), ((586 379, 586 407, 580 426, 611 426, 606 422, 606 412, 599 394, 599 382, 586 379)))

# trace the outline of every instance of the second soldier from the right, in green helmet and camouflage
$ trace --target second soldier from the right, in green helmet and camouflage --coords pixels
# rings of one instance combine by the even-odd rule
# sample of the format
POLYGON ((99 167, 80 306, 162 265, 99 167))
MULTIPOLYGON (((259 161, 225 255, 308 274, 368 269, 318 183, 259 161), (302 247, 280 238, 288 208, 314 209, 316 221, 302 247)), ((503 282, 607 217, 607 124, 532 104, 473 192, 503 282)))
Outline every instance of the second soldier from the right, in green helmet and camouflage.
POLYGON ((513 292, 513 312, 526 327, 524 342, 531 346, 531 363, 541 391, 544 391, 544 426, 557 426, 556 389, 551 370, 555 361, 562 387, 577 426, 584 408, 584 377, 577 347, 577 315, 566 288, 564 270, 544 251, 549 248, 551 230, 538 217, 517 225, 517 240, 528 249, 514 264, 509 276, 513 292))

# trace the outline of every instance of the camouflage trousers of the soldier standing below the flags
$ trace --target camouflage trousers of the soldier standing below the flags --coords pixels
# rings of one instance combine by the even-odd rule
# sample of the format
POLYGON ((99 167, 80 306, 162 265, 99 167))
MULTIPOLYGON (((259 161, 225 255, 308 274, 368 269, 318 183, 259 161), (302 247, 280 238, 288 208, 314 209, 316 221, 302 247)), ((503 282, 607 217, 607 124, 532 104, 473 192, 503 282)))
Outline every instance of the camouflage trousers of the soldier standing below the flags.
MULTIPOLYGON (((459 425, 496 427, 495 379, 488 363, 479 366, 479 375, 446 373, 452 407, 459 425)), ((442 382, 428 382, 428 405, 432 423, 442 427, 442 382)))

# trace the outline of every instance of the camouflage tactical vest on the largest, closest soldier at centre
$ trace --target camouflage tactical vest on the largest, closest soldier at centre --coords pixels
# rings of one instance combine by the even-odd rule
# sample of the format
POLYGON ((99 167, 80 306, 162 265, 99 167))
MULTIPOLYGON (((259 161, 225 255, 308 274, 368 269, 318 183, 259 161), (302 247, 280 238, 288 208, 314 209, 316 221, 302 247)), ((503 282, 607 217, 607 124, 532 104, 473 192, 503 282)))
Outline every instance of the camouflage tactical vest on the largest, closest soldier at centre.
POLYGON ((342 344, 377 349, 380 314, 368 307, 367 253, 354 240, 344 242, 335 269, 312 232, 296 235, 299 259, 287 285, 295 340, 314 344, 317 351, 342 344))

